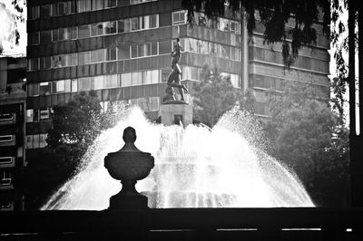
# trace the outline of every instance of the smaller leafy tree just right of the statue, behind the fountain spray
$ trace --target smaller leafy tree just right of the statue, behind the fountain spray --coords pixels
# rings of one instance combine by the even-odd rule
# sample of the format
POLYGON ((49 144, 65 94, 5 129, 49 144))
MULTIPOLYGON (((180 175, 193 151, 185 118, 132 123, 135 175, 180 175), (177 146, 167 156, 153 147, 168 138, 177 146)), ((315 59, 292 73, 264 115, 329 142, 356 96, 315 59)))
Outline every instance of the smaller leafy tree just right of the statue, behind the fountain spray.
POLYGON ((235 104, 253 110, 250 92, 245 95, 240 89, 234 88, 231 79, 223 76, 217 68, 211 70, 204 66, 201 82, 198 82, 193 91, 194 118, 209 127, 213 127, 221 115, 230 111, 235 104), (247 96, 250 98, 245 98, 247 96))

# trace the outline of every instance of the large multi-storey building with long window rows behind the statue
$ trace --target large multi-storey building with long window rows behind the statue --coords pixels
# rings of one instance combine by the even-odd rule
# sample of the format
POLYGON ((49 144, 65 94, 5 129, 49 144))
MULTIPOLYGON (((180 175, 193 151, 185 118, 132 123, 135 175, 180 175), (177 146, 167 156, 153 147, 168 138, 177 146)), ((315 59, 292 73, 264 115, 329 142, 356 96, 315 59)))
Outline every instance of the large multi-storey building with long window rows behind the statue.
POLYGON ((280 90, 284 81, 311 82, 329 97, 329 42, 319 23, 317 44, 303 48, 297 63, 284 71, 279 44, 271 51, 262 43, 260 24, 250 42, 239 15, 213 21, 197 14, 191 26, 181 0, 30 0, 27 5, 30 150, 45 146, 52 107, 77 92, 94 90, 103 107, 109 101, 138 103, 156 119, 176 37, 184 47, 182 80, 190 90, 208 64, 231 76, 236 88, 253 88, 262 118, 269 116, 264 92, 280 90))

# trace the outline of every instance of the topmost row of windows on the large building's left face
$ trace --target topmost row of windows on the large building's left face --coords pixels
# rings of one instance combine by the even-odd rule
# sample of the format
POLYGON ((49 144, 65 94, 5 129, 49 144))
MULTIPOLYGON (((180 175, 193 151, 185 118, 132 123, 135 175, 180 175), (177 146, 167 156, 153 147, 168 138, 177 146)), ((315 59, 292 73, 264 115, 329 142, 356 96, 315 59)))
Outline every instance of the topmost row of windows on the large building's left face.
POLYGON ((122 5, 136 5, 157 0, 76 0, 60 1, 48 5, 36 5, 29 7, 28 19, 47 18, 64 14, 76 14, 96 11, 122 5))

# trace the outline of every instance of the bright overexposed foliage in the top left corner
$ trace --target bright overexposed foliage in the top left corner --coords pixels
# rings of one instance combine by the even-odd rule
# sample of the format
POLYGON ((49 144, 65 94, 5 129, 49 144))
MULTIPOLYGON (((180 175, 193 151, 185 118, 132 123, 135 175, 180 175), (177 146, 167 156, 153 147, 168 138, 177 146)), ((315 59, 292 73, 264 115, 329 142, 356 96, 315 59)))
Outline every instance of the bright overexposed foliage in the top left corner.
POLYGON ((2 23, 2 29, 0 31, 0 55, 4 51, 5 42, 10 43, 11 47, 14 44, 19 44, 20 34, 17 24, 25 23, 23 8, 25 5, 25 0, 13 0, 11 2, 12 9, 10 9, 4 3, 0 2, 0 19, 2 23))

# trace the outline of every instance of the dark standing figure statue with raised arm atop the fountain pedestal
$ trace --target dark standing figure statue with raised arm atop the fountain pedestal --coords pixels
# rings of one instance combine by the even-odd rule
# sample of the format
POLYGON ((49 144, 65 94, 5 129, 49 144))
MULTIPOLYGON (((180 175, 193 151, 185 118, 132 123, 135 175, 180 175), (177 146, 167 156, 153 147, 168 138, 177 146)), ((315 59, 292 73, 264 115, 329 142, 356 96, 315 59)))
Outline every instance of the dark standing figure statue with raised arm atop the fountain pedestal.
MULTIPOLYGON (((179 38, 176 39, 176 43, 174 45, 174 51, 172 52, 172 72, 169 74, 168 77, 168 87, 176 87, 178 88, 179 93, 181 94, 181 101, 185 101, 184 100, 184 92, 188 92, 187 87, 185 87, 184 84, 181 84, 181 74, 182 74, 182 69, 181 66, 179 66, 179 61, 181 60, 182 57, 182 44, 179 43, 179 38)), ((170 93, 168 93, 168 87, 167 87, 167 95, 170 93)), ((169 90, 170 92, 170 90, 169 90)), ((173 92, 172 92, 172 96, 173 96, 173 92)), ((166 98, 166 96, 164 97, 166 98)))

